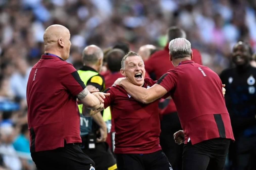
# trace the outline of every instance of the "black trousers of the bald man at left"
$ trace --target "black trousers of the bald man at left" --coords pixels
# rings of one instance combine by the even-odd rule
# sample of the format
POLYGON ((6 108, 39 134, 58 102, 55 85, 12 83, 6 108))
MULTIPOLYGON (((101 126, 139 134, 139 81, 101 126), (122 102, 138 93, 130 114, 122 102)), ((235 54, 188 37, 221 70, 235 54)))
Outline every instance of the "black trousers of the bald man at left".
POLYGON ((94 162, 82 152, 76 143, 68 143, 54 150, 33 152, 31 157, 38 170, 91 170, 94 169, 91 167, 95 167, 94 162))

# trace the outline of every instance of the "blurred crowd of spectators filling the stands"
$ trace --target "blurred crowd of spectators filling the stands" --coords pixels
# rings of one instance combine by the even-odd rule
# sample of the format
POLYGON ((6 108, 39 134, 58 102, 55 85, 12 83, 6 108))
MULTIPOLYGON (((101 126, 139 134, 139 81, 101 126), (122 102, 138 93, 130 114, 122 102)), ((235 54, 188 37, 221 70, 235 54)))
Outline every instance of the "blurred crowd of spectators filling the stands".
POLYGON ((104 50, 125 42, 135 52, 145 44, 162 49, 168 27, 178 26, 203 64, 219 74, 231 66, 238 40, 256 50, 255 10, 253 0, 0 0, 0 166, 35 168, 29 158, 26 84, 44 53, 48 26, 70 30, 68 62, 76 68, 87 45, 104 50))

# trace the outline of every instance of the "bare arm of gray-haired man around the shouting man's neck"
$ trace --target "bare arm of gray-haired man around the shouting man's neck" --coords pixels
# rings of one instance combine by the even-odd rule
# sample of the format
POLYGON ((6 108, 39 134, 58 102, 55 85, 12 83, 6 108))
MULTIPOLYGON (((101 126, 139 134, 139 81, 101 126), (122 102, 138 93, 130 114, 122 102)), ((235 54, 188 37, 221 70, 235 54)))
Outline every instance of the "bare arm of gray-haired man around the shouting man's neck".
POLYGON ((159 84, 154 84, 148 89, 136 86, 127 79, 118 79, 115 84, 122 86, 135 100, 144 104, 151 103, 167 93, 167 90, 159 84))

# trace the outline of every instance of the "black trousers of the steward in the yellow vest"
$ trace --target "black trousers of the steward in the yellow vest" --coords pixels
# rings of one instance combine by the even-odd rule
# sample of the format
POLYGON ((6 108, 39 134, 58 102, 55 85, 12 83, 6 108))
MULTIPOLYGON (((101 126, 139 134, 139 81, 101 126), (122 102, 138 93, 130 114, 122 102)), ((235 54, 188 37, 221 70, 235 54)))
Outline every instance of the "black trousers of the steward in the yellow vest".
POLYGON ((95 143, 95 149, 88 149, 88 144, 81 145, 82 151, 87 154, 94 162, 95 169, 97 170, 115 170, 116 160, 114 155, 109 149, 109 145, 106 142, 95 143))

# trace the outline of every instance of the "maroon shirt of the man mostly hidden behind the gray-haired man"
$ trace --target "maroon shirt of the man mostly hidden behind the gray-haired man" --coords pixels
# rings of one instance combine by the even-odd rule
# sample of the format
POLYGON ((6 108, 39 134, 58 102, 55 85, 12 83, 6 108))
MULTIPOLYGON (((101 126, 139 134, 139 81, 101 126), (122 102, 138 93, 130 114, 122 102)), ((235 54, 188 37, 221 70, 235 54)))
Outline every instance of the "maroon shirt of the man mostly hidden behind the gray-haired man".
MULTIPOLYGON (((157 51, 145 62, 146 71, 151 74, 154 73, 156 79, 159 79, 163 74, 165 74, 168 70, 174 68, 173 63, 170 61, 169 56, 169 43, 166 44, 163 50, 157 51)), ((200 52, 192 48, 193 52, 193 61, 195 63, 202 65, 202 59, 200 52)), ((172 112, 176 112, 176 107, 173 100, 170 100, 169 104, 161 111, 161 114, 169 114, 172 112)))

